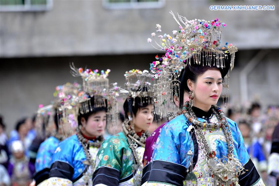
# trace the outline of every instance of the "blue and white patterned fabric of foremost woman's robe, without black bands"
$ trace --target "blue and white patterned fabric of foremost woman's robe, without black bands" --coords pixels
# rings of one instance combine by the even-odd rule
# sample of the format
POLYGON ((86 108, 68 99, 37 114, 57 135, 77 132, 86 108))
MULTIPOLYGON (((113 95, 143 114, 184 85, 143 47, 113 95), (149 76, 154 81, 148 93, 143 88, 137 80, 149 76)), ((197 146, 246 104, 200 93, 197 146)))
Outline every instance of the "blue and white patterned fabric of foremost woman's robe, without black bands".
MULTIPOLYGON (((199 121, 204 121, 202 118, 198 118, 199 121)), ((217 118, 215 115, 209 118, 210 122, 216 122, 217 118)), ((242 138, 239 138, 239 129, 235 122, 227 119, 230 128, 232 129, 232 138, 234 140, 234 155, 240 160, 242 164, 249 160, 249 155, 244 147, 242 138)), ((180 164, 185 167, 190 166, 192 155, 187 155, 187 152, 194 151, 193 141, 190 132, 187 132, 188 125, 187 119, 183 116, 177 116, 170 122, 168 122, 163 128, 156 141, 153 145, 153 160, 162 160, 167 162, 173 162, 180 164), (190 158, 188 158, 190 156, 190 158)), ((203 131, 208 140, 211 149, 216 149, 216 156, 218 158, 226 157, 227 145, 224 140, 224 134, 220 129, 206 129, 203 131)), ((197 164, 193 167, 193 172, 197 178, 197 185, 214 185, 211 179, 211 172, 206 163, 205 157, 199 153, 197 158, 197 164)), ((186 181, 185 185, 196 185, 192 181, 186 181)))

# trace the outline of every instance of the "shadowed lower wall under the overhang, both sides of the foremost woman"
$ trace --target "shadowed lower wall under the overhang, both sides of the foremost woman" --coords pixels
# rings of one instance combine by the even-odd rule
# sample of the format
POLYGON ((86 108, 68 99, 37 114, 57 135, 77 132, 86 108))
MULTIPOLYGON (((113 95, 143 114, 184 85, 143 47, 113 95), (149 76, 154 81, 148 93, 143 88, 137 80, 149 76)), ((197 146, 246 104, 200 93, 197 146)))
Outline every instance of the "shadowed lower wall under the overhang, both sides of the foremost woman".
MULTIPOLYGON (((236 65, 230 78, 230 106, 259 99, 263 107, 279 104, 279 50, 268 50, 259 64, 248 74, 246 102, 241 102, 241 83, 239 74, 259 51, 243 50, 237 52, 236 65)), ((23 116, 31 116, 39 104, 50 104, 55 86, 66 82, 82 82, 69 71, 69 62, 76 67, 91 69, 111 69, 110 83, 118 82, 124 87, 123 74, 130 69, 148 69, 156 54, 145 55, 106 55, 49 58, 2 59, 0 63, 0 113, 4 116, 10 131, 15 122, 23 116)), ((248 106, 248 105, 246 105, 248 106)))

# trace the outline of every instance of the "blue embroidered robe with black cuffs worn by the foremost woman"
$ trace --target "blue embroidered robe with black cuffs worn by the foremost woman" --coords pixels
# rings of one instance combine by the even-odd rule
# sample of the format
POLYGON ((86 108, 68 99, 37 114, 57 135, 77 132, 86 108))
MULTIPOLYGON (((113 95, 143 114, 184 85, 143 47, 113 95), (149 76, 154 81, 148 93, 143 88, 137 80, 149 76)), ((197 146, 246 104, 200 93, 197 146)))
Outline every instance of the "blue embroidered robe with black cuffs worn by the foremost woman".
MULTIPOLYGON (((193 110, 198 110, 194 108, 193 110)), ((200 114, 196 113, 198 120, 203 122, 202 116, 207 116, 209 121, 213 121, 216 117, 212 114, 200 114)), ((247 171, 244 175, 239 176, 239 184, 252 185, 256 182, 260 182, 259 174, 256 171, 253 162, 251 161, 249 154, 246 151, 241 133, 237 128, 237 124, 227 118, 229 126, 232 131, 234 155, 240 160, 241 164, 247 171)), ((149 175, 149 180, 142 180, 142 183, 148 181, 149 183, 162 182, 171 185, 209 185, 211 182, 211 175, 208 174, 208 166, 206 161, 198 150, 197 139, 194 134, 191 135, 187 132, 187 128, 190 123, 184 117, 183 114, 175 117, 168 122, 161 130, 161 133, 157 139, 156 146, 153 151, 152 168, 149 175), (192 157, 187 156, 187 152, 191 150, 193 152, 192 157), (197 177, 197 181, 184 181, 187 175, 187 168, 193 159, 194 174, 197 177), (209 179, 209 180, 208 180, 209 179), (190 182, 190 183, 189 183, 190 182)), ((218 158, 226 156, 228 150, 224 141, 224 134, 222 131, 205 131, 206 139, 210 139, 210 146, 216 150, 216 156, 218 158)), ((153 184, 150 184, 153 185, 153 184)), ((158 184, 159 185, 159 184, 158 184)))

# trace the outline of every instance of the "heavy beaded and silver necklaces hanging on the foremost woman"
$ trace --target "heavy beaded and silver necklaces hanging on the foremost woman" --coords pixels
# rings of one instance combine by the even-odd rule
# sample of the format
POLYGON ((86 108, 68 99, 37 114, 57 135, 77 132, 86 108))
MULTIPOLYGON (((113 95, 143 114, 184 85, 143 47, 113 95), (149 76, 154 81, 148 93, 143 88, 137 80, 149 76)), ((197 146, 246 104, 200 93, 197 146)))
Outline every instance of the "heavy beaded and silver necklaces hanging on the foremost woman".
MULTIPOLYGON (((182 108, 182 113, 192 124, 190 125, 192 127, 189 126, 189 128, 193 128, 195 131, 197 143, 199 144, 201 153, 203 153, 203 155, 206 157, 206 162, 211 170, 211 177, 215 182, 214 185, 234 186, 238 184, 238 175, 245 173, 244 168, 233 154, 232 133, 224 112, 217 105, 213 106, 212 111, 219 120, 217 123, 198 121, 188 101, 183 105, 182 108), (202 128, 222 128, 228 148, 228 155, 227 157, 224 157, 226 161, 218 159, 216 157, 216 152, 210 150, 202 128)), ((188 129, 187 131, 190 132, 188 129)))

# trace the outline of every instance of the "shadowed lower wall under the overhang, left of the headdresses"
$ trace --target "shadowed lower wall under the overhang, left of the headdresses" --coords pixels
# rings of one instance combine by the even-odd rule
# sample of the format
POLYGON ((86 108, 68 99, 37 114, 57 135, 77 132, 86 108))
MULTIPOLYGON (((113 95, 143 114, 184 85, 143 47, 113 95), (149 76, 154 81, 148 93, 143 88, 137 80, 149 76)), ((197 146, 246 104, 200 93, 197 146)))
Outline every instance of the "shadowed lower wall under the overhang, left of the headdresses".
POLYGON ((54 100, 55 86, 66 82, 82 83, 82 78, 70 74, 69 63, 79 68, 106 70, 110 83, 124 87, 124 73, 130 69, 148 69, 155 55, 106 55, 51 58, 2 59, 0 63, 0 114, 7 130, 24 116, 32 116, 39 104, 54 100))

